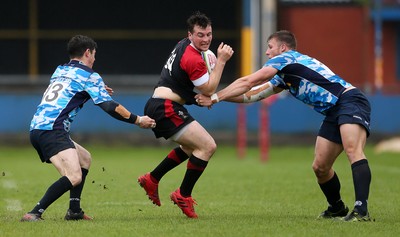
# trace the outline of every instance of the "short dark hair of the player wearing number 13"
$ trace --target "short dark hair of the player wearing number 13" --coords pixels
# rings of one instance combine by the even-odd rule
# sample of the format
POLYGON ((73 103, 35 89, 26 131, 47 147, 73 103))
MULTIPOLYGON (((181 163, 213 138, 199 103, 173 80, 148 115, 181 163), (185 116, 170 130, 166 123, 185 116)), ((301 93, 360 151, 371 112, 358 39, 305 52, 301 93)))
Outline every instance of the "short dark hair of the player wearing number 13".
POLYGON ((70 58, 82 57, 87 49, 91 52, 97 49, 97 43, 88 36, 75 35, 68 42, 67 51, 70 58))

